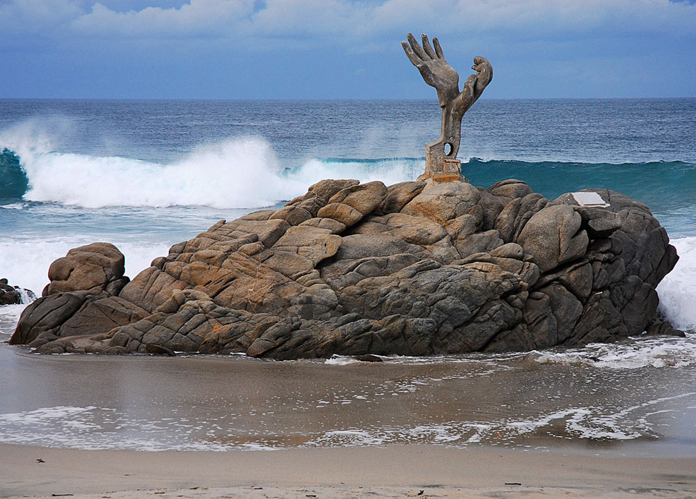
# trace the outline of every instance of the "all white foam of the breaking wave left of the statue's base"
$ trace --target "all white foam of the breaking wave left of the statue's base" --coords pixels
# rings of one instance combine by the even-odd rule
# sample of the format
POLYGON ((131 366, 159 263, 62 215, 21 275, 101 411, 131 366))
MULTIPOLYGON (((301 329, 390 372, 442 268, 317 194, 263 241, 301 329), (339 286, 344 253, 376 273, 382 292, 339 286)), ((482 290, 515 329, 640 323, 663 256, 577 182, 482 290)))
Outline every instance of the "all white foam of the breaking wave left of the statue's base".
POLYGON ((209 206, 255 209, 290 200, 326 178, 413 180, 422 159, 308 159, 282 164, 261 137, 200 145, 167 163, 54 150, 49 134, 16 126, 0 134, 0 150, 14 152, 29 180, 24 200, 96 208, 209 206))

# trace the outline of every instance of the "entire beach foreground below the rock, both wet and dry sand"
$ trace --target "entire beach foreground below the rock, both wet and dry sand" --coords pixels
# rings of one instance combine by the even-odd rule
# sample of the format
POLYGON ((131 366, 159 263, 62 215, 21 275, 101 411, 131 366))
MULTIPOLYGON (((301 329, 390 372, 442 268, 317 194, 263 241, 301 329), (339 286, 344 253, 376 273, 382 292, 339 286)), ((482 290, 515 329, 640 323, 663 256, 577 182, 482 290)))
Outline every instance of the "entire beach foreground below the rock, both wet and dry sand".
POLYGON ((693 366, 349 362, 0 345, 0 497, 696 496, 693 366))

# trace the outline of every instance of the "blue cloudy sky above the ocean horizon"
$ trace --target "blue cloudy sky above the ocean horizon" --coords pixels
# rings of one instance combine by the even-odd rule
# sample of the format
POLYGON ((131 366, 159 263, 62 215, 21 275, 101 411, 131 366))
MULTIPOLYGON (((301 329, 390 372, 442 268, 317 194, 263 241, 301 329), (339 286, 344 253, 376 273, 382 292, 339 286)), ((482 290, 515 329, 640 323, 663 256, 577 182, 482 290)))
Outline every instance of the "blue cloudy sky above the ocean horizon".
POLYGON ((696 97, 695 0, 0 0, 0 98, 434 98, 409 32, 488 98, 696 97))

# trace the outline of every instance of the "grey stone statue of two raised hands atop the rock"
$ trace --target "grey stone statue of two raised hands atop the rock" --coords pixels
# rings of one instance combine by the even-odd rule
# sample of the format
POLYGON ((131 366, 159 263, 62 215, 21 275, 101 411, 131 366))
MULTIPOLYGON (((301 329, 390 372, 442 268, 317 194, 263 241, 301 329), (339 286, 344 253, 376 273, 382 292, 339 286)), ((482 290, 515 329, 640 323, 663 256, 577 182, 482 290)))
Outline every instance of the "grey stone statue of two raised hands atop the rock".
POLYGON ((459 92, 459 74, 445 61, 445 56, 437 38, 430 45, 427 35, 422 35, 422 47, 409 33, 409 43, 401 42, 406 56, 413 63, 429 86, 437 90, 442 108, 442 131, 440 138, 425 145, 425 175, 436 173, 460 175, 461 164, 457 161, 461 139, 461 117, 483 93, 493 79, 493 67, 483 57, 475 57, 471 69, 476 71, 459 92), (410 44, 410 46, 409 46, 410 44), (434 46, 434 48, 433 48, 434 46))

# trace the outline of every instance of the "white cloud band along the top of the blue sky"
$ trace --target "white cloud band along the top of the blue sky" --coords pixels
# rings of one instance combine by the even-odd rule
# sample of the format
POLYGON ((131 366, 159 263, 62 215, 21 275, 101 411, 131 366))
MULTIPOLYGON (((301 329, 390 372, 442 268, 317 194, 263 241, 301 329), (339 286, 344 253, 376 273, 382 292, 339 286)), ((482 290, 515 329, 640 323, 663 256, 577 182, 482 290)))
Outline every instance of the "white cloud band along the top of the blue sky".
POLYGON ((669 0, 266 0, 261 8, 254 0, 190 0, 175 8, 147 6, 143 0, 142 8, 127 12, 79 2, 0 1, 0 19, 8 21, 3 28, 45 33, 60 26, 61 35, 82 39, 205 37, 239 40, 255 49, 263 48, 264 40, 292 38, 355 50, 403 39, 406 31, 447 35, 453 44, 473 38, 514 43, 696 32, 696 6, 669 0))

